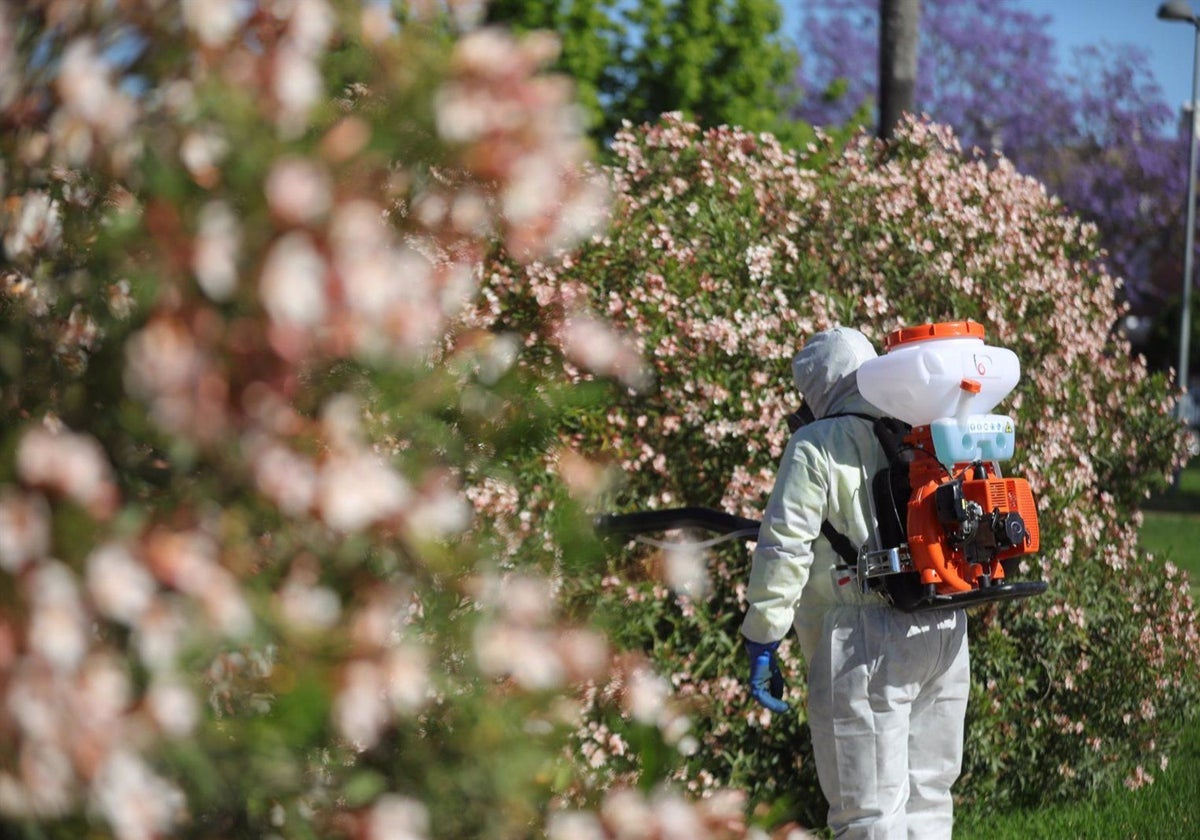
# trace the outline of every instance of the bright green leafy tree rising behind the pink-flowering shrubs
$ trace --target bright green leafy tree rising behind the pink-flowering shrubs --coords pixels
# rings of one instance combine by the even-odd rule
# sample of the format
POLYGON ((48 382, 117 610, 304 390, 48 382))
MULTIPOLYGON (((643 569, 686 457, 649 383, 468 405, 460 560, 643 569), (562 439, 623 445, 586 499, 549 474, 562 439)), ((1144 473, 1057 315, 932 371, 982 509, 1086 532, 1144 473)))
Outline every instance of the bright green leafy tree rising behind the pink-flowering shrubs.
POLYGON ((500 0, 488 20, 558 34, 558 70, 575 78, 598 140, 674 110, 706 126, 798 131, 785 116, 796 58, 775 0, 500 0))

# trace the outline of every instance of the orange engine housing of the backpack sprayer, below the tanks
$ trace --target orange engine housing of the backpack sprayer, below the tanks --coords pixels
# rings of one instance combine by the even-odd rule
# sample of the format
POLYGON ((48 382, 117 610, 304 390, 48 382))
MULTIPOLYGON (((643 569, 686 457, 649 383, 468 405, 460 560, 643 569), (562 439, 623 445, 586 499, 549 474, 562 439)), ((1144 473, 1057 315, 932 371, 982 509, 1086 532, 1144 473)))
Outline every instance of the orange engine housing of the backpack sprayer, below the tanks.
POLYGON ((1000 478, 986 463, 955 464, 947 474, 928 426, 914 428, 910 442, 908 553, 922 583, 940 594, 978 589, 1004 577, 1004 560, 1038 550, 1028 481, 1000 478))

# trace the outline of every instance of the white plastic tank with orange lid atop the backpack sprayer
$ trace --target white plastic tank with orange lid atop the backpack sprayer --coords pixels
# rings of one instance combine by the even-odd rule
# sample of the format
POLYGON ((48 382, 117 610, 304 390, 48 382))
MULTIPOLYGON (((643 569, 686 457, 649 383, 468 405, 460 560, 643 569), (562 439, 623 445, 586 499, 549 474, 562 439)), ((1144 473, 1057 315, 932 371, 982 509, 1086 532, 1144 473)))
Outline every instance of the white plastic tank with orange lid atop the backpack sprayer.
POLYGON ((922 324, 892 332, 887 352, 858 368, 858 390, 876 408, 912 426, 986 414, 1016 386, 1016 354, 983 341, 973 320, 922 324))

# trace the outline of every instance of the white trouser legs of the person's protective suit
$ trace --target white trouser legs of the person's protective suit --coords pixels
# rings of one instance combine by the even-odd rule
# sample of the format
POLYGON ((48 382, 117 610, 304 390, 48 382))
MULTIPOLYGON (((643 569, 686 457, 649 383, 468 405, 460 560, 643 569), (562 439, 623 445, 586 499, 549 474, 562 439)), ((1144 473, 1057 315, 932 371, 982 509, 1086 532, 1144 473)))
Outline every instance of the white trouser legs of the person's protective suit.
POLYGON ((950 836, 968 690, 961 611, 830 610, 809 666, 809 725, 834 836, 950 836))

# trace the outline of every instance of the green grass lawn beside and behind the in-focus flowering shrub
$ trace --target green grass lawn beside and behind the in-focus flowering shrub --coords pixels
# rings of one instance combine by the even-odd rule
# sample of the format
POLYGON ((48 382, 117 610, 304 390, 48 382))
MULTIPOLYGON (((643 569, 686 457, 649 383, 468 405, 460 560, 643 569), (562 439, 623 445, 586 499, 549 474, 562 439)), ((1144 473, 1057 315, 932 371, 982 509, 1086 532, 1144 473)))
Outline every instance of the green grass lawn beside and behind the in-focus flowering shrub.
MULTIPOLYGON (((1200 601, 1200 460, 1178 486, 1146 506, 1142 546, 1187 569, 1200 601)), ((1183 733, 1165 772, 1140 791, 1109 791, 1087 802, 1003 814, 960 812, 958 840, 1200 838, 1200 718, 1183 733)))

